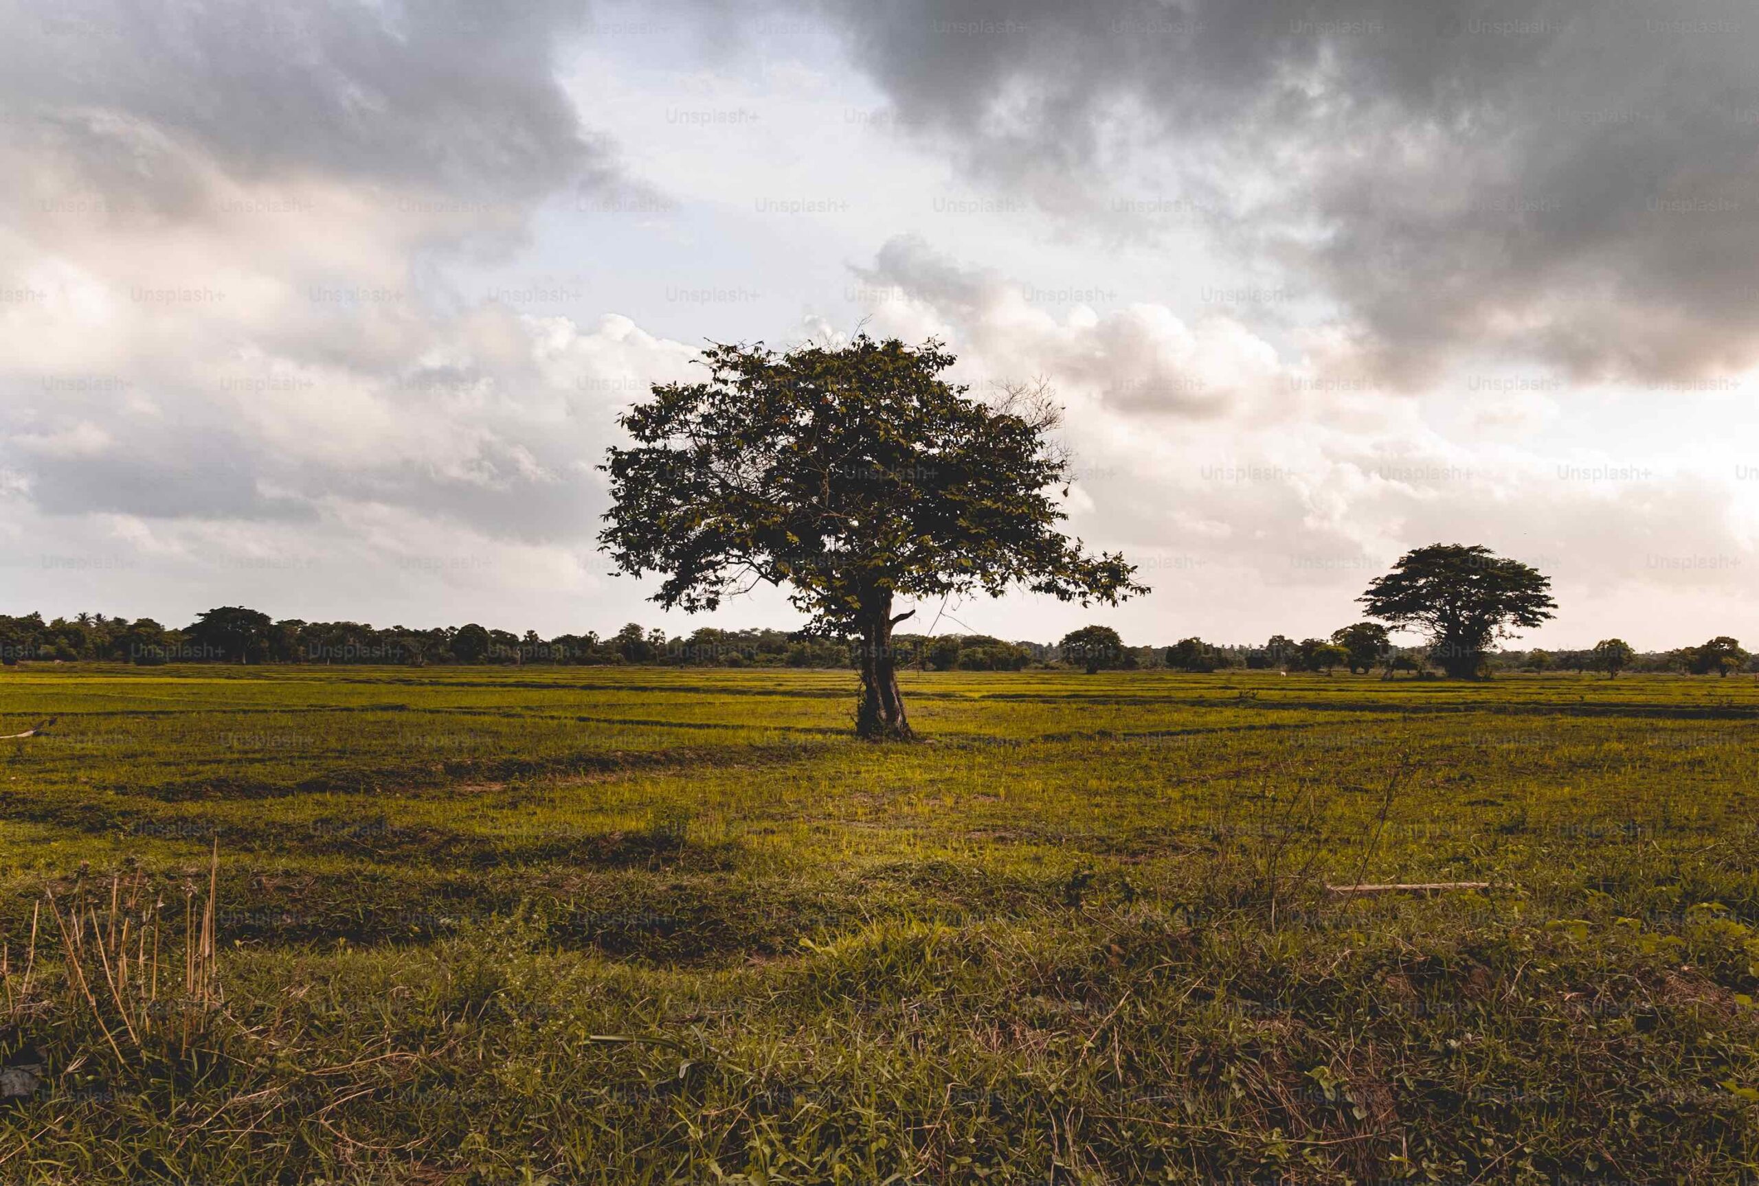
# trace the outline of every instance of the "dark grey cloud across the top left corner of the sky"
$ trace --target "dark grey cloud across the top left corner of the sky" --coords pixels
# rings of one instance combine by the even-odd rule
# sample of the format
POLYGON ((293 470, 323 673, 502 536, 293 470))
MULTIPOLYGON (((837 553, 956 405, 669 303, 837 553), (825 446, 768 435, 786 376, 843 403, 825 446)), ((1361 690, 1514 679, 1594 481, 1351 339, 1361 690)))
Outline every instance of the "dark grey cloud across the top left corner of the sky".
POLYGON ((522 200, 600 167, 551 74, 579 14, 542 0, 12 0, 0 127, 158 213, 201 197, 178 149, 241 179, 522 200))

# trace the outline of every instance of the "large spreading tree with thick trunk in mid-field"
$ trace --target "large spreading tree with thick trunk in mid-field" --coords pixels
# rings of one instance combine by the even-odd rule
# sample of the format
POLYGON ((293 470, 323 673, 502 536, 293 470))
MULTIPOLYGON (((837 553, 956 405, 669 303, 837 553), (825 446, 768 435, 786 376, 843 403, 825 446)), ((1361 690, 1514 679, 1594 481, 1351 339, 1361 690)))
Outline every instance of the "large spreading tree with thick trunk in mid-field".
POLYGON ((1057 531, 1068 457, 1057 409, 1017 390, 985 404, 941 378, 938 341, 865 334, 786 353, 714 344, 704 383, 660 383, 619 423, 598 539, 630 575, 667 573, 665 608, 712 610, 756 583, 788 587, 807 631, 857 643, 864 738, 909 738, 892 627, 899 597, 1024 585, 1117 604, 1147 592, 1122 555, 1057 531))

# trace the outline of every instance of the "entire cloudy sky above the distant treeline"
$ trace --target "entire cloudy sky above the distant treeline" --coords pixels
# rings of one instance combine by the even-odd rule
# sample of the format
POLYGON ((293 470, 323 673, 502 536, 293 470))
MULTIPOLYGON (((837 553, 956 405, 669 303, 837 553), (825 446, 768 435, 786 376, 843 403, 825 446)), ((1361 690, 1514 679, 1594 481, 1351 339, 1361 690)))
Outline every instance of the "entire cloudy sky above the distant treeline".
POLYGON ((1441 541, 1529 643, 1759 641, 1750 0, 0 0, 0 611, 793 626, 646 604, 595 467, 865 327, 1048 380, 1154 587, 941 629, 1330 633, 1441 541))

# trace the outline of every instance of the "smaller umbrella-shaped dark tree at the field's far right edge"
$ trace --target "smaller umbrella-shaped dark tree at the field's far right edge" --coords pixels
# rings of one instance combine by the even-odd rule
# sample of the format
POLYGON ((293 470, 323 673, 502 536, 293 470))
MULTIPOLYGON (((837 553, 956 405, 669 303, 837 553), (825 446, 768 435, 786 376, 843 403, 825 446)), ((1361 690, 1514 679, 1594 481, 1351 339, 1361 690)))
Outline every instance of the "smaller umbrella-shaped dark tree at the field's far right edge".
POLYGON ((1550 587, 1550 576, 1483 545, 1432 543, 1402 555, 1358 601, 1369 617, 1428 631, 1430 657, 1449 676, 1471 680, 1492 640, 1553 617, 1550 587))

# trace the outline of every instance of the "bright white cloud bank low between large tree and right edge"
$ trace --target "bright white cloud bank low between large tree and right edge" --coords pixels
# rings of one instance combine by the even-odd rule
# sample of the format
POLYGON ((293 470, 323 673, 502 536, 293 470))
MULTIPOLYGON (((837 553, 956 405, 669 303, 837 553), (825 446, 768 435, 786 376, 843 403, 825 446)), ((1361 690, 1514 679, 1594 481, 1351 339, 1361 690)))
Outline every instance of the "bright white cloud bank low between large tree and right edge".
POLYGON ((1558 415, 1550 385, 1432 404, 1361 380, 1347 334, 1319 329, 1279 353, 1238 322, 1189 325, 1161 306, 1057 318, 1025 285, 915 241, 860 276, 887 295, 878 330, 945 336, 978 392, 1052 383, 1084 490, 1073 527, 1140 557, 1159 585, 1124 611, 1143 634, 1330 631, 1402 552, 1463 541, 1557 580, 1566 615, 1550 636, 1578 638, 1573 603, 1620 590, 1639 620, 1618 631, 1660 645, 1666 626, 1645 613, 1701 585, 1733 594, 1759 562, 1729 481, 1511 432, 1558 415))

